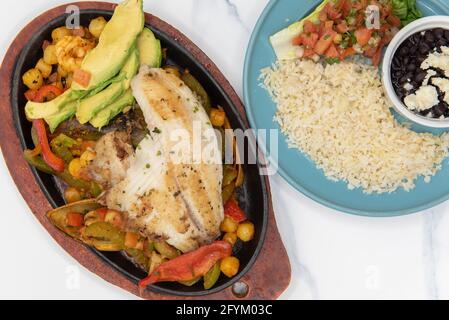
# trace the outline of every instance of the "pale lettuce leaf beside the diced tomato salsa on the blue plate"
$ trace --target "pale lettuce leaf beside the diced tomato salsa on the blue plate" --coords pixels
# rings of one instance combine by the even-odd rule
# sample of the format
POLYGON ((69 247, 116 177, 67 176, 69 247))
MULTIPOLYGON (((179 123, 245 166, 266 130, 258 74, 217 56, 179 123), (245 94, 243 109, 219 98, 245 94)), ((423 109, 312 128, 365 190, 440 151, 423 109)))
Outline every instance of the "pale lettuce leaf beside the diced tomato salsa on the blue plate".
POLYGON ((320 12, 330 1, 332 0, 324 0, 309 16, 301 21, 291 24, 270 37, 271 45, 273 46, 278 60, 292 60, 297 58, 296 49, 298 47, 292 44, 293 38, 298 36, 304 30, 304 22, 306 20, 310 20, 313 23, 318 22, 320 12))

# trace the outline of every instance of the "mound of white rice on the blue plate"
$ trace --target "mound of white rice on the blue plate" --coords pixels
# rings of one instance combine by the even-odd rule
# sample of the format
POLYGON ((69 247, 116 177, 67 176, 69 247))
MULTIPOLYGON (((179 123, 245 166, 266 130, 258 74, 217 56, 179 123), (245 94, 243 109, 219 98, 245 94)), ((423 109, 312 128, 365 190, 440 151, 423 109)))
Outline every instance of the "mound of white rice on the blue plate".
POLYGON ((419 134, 396 122, 376 68, 282 61, 262 78, 289 147, 349 189, 409 191, 419 176, 429 182, 448 156, 449 135, 419 134))

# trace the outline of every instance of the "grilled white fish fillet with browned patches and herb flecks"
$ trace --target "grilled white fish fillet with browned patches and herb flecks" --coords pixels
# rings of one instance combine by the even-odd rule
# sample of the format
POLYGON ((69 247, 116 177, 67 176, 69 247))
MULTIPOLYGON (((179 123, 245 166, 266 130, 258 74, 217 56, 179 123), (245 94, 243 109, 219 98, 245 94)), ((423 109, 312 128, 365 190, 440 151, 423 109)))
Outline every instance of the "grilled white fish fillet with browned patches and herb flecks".
POLYGON ((103 201, 127 212, 130 228, 183 252, 194 250, 220 234, 218 138, 199 99, 176 76, 143 67, 132 89, 150 135, 130 160, 126 178, 103 201))

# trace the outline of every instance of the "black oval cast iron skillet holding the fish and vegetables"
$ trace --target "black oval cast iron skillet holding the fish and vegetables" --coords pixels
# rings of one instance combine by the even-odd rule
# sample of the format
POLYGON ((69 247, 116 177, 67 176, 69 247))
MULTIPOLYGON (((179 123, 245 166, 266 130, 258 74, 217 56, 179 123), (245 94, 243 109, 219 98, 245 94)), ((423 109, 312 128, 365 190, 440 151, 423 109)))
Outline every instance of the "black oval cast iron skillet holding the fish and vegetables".
MULTIPOLYGON (((110 19, 112 11, 107 10, 81 10, 81 25, 88 26, 89 21, 98 16, 110 19)), ((66 15, 59 16, 49 21, 44 28, 35 30, 31 41, 24 47, 17 58, 14 67, 14 76, 12 79, 11 105, 13 107, 14 122, 19 135, 23 149, 33 148, 31 140, 31 123, 26 120, 24 106, 26 99, 24 93, 27 90, 22 83, 22 75, 30 68, 33 68, 37 60, 42 57, 42 43, 45 39, 51 39, 51 31, 59 26, 65 25, 66 15)), ((176 65, 181 69, 188 68, 190 72, 200 81, 211 97, 213 105, 220 105, 226 111, 226 114, 234 129, 246 129, 245 121, 239 114, 236 106, 226 95, 225 91, 193 55, 188 52, 177 39, 171 38, 157 27, 146 23, 151 28, 156 37, 161 40, 162 47, 167 48, 167 64, 176 65)), ((52 176, 38 172, 32 168, 41 189, 45 193, 48 201, 53 207, 64 204, 62 192, 58 188, 52 176)), ((225 289, 235 283, 242 277, 255 262, 264 242, 267 228, 268 217, 268 195, 266 180, 259 175, 257 165, 245 165, 245 183, 239 190, 239 200, 242 208, 248 215, 256 228, 255 238, 244 245, 238 245, 234 248, 234 255, 240 260, 240 272, 233 278, 227 278, 223 274, 220 280, 211 290, 204 290, 202 281, 199 281, 192 287, 183 286, 178 283, 160 283, 150 287, 150 290, 161 294, 196 296, 212 294, 225 289)), ((102 257, 108 264, 125 274, 131 281, 137 283, 146 276, 145 272, 136 267, 122 253, 119 252, 99 252, 92 249, 97 255, 102 257)))

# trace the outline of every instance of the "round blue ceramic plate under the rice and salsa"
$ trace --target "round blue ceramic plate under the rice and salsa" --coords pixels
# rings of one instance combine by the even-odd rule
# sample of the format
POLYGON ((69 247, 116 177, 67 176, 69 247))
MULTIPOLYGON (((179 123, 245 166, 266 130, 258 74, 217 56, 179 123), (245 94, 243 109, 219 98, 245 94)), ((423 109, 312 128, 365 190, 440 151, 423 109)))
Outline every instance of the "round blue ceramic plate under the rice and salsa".
MULTIPOLYGON (((271 0, 262 13, 253 31, 245 60, 244 98, 251 125, 255 129, 279 129, 273 121, 276 105, 260 86, 260 70, 276 61, 269 43, 269 36, 300 20, 312 12, 321 0, 271 0)), ((441 0, 418 0, 425 16, 449 15, 449 4, 441 0)), ((415 131, 430 131, 413 126, 415 131)), ((433 133, 441 131, 433 130, 433 133)), ((268 139, 268 138, 267 138, 268 139)), ((268 141, 268 140, 267 140, 268 141)), ((410 192, 399 189, 392 194, 366 195, 362 190, 348 190, 346 183, 332 182, 317 169, 315 164, 297 149, 289 149, 286 137, 280 133, 277 155, 271 154, 269 145, 259 141, 272 163, 278 163, 278 172, 293 187, 315 201, 339 211, 373 217, 406 215, 433 207, 449 199, 449 160, 443 168, 425 183, 416 181, 410 192)))

